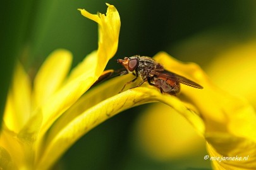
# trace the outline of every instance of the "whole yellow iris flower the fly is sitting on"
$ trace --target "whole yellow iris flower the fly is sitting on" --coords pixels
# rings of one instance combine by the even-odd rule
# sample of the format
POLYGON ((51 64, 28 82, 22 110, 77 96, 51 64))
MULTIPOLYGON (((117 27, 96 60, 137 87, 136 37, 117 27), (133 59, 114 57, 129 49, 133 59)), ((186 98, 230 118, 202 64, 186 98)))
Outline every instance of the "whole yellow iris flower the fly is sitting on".
POLYGON ((214 86, 195 64, 183 64, 164 52, 155 55, 166 69, 204 86, 202 90, 181 86, 178 98, 161 94, 147 83, 118 94, 120 89, 113 87, 130 81, 133 75, 116 77, 87 91, 118 47, 119 14, 114 6, 107 6, 106 15, 79 9, 99 24, 99 48, 70 74, 72 56, 66 50, 52 52, 33 83, 17 64, 4 111, 0 167, 49 169, 99 123, 133 106, 159 101, 183 115, 205 138, 210 156, 249 156, 244 162, 212 161, 215 169, 255 169, 255 111, 245 99, 214 86))

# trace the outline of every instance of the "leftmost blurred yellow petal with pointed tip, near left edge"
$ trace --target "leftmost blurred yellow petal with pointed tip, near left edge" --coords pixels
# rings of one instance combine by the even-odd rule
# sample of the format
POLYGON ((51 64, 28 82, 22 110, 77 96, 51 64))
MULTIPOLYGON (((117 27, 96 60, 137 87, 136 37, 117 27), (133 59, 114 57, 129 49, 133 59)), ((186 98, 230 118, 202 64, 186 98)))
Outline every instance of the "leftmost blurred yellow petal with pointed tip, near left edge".
POLYGON ((4 122, 14 132, 19 132, 31 116, 31 86, 27 73, 18 63, 4 111, 4 122))

